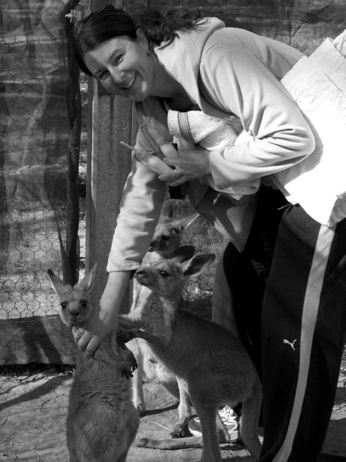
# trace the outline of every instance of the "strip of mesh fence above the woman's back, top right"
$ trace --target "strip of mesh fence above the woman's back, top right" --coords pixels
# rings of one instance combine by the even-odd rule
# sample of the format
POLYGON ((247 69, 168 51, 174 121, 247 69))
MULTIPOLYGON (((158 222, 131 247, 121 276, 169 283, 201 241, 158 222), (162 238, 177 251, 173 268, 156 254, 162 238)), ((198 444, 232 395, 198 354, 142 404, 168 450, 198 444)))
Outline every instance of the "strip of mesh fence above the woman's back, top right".
MULTIPOLYGON (((326 37, 346 28, 344 0, 180 0, 239 27, 287 43, 310 54, 326 37)), ((151 8, 167 10, 174 0, 149 0, 151 8)))

